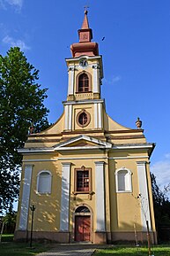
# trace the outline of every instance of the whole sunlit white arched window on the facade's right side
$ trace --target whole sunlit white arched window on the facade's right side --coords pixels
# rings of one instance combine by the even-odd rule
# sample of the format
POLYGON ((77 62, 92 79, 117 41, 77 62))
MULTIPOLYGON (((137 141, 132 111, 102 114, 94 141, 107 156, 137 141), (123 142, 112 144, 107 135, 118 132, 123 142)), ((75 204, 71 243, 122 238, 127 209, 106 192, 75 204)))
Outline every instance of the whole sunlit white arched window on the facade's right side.
POLYGON ((122 167, 115 171, 115 183, 117 192, 131 192, 131 172, 122 167))

